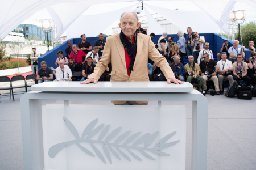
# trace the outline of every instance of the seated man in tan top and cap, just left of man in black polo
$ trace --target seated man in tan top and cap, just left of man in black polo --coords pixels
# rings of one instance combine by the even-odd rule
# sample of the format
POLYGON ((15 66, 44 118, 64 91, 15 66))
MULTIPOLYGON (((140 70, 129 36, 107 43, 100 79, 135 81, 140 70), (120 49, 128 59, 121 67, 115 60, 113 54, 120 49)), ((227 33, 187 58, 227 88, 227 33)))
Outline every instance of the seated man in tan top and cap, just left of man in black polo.
POLYGON ((187 74, 187 82, 191 83, 192 80, 198 82, 198 90, 201 90, 203 84, 203 77, 200 74, 200 67, 197 63, 194 62, 194 57, 188 56, 188 61, 185 67, 185 73, 187 74))

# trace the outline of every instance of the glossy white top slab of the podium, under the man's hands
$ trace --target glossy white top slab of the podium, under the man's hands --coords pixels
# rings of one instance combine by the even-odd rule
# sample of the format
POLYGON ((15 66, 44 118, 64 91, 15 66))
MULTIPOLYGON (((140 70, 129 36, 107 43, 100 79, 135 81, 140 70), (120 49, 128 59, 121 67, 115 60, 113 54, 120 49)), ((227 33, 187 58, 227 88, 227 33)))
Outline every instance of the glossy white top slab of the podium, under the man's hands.
POLYGON ((43 92, 191 92, 193 85, 167 82, 44 82, 32 86, 32 91, 43 92))

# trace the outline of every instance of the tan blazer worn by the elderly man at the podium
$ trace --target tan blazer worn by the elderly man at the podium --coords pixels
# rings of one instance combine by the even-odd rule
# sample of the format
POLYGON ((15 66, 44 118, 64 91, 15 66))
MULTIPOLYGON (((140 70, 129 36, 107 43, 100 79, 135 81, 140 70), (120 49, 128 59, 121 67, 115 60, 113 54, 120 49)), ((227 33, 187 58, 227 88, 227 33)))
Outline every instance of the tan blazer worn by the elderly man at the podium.
MULTIPOLYGON (((101 74, 106 70, 111 60, 112 71, 111 81, 119 82, 144 82, 149 81, 147 72, 147 61, 150 58, 155 62, 156 66, 160 67, 166 79, 175 78, 169 63, 166 61, 158 50, 155 48, 154 43, 151 41, 150 36, 138 33, 137 38, 137 54, 131 71, 131 75, 127 75, 126 62, 125 62, 125 48, 120 40, 119 33, 109 36, 106 39, 104 52, 102 58, 98 61, 93 73, 89 78, 98 80, 101 74)), ((112 101, 114 104, 123 104, 126 101, 112 101)), ((137 103, 146 103, 147 101, 137 101, 137 103)))

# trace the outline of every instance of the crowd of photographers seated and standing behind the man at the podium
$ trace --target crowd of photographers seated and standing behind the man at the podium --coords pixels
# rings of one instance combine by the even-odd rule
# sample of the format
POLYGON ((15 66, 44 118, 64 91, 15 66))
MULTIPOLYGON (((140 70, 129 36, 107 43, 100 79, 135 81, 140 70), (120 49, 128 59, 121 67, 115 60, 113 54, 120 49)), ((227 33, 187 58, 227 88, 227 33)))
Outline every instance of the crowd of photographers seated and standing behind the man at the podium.
MULTIPOLYGON (((138 33, 147 35, 147 29, 139 28, 138 33)), ((155 37, 151 33, 151 40, 155 37)), ((245 59, 243 49, 238 48, 239 41, 235 40, 233 46, 228 45, 225 40, 220 52, 217 54, 217 63, 214 61, 213 52, 209 49, 209 42, 205 41, 199 33, 193 32, 190 27, 187 28, 187 34, 183 31, 177 33, 179 39, 174 42, 174 37, 167 38, 167 32, 163 32, 159 38, 155 48, 170 63, 170 67, 177 79, 181 81, 197 82, 197 89, 204 95, 208 89, 207 80, 213 82, 216 95, 224 93, 222 86, 223 80, 227 80, 232 84, 234 80, 241 80, 246 86, 256 86, 256 69, 255 69, 255 48, 254 42, 250 41, 251 57, 245 59), (184 65, 184 58, 188 59, 188 63, 184 65), (246 61, 246 62, 244 62, 246 61), (202 90, 201 90, 202 88, 202 90)), ((55 70, 56 80, 85 80, 93 73, 94 67, 101 59, 104 51, 104 35, 101 33, 99 39, 94 42, 93 48, 86 36, 81 35, 79 44, 71 44, 67 42, 65 52, 67 56, 63 56, 60 50, 57 52, 56 65, 59 66, 55 70), (81 73, 81 75, 73 73, 81 73)), ((31 61, 36 63, 36 49, 33 49, 31 61)), ((53 79, 53 72, 49 69, 45 62, 41 63, 41 69, 38 70, 38 83, 46 82, 53 79)), ((111 79, 111 62, 105 72, 101 75, 99 81, 110 81, 111 79)), ((153 61, 148 59, 148 77, 150 81, 166 81, 166 78, 159 67, 153 61)))

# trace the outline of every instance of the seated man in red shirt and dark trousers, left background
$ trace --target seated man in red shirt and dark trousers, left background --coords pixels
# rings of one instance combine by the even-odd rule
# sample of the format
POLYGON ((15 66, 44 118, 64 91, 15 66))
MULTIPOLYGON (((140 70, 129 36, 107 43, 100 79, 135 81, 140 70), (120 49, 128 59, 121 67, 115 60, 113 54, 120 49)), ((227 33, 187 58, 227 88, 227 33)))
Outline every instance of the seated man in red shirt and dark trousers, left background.
POLYGON ((86 54, 77 48, 77 45, 74 44, 72 46, 73 52, 70 53, 70 62, 72 65, 71 71, 82 71, 82 65, 84 65, 85 61, 82 61, 83 57, 86 57, 86 54))

